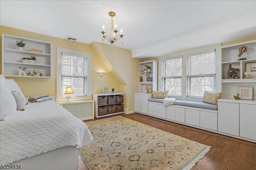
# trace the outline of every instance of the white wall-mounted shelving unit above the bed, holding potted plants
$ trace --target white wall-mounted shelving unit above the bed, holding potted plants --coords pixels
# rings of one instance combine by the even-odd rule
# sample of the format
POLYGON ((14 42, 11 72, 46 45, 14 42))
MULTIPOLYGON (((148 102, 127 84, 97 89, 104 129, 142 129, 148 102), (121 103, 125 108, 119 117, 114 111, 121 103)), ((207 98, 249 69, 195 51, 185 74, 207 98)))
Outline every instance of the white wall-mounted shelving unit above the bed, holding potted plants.
POLYGON ((31 77, 31 78, 50 78, 51 77, 51 43, 2 34, 2 74, 10 77, 31 77), (23 50, 18 50, 16 41, 26 43, 23 50), (32 52, 30 49, 42 50, 42 53, 32 52), (22 63, 22 58, 36 57, 34 64, 22 63), (40 72, 43 76, 25 76, 18 74, 18 68, 26 67, 26 74, 40 72))

